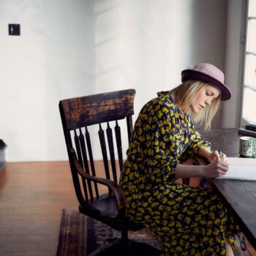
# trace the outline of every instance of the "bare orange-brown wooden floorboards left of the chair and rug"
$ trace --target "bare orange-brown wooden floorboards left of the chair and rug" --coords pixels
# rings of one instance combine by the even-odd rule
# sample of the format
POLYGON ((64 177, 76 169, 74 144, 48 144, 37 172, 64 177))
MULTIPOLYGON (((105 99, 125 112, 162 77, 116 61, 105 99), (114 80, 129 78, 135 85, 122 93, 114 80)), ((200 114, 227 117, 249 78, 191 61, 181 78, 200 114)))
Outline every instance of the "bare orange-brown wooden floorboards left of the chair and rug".
POLYGON ((78 202, 68 162, 7 163, 0 173, 0 255, 56 255, 61 210, 69 207, 78 202))

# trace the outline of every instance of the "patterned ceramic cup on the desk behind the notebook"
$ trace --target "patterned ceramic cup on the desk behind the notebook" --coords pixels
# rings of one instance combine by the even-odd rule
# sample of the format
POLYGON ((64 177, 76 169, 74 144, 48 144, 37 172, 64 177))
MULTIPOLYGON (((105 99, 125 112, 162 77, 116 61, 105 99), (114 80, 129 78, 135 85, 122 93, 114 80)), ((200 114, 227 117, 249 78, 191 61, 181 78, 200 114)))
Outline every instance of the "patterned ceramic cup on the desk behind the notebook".
POLYGON ((256 138, 243 136, 240 138, 239 145, 240 157, 255 157, 256 154, 256 138))

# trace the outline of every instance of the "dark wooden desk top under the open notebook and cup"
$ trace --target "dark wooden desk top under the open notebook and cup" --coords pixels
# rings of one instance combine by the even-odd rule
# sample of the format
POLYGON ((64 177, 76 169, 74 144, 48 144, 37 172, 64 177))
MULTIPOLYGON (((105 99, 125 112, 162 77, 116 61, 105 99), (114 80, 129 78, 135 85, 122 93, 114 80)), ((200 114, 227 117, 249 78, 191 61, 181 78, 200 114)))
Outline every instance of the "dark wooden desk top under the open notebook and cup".
MULTIPOLYGON (((239 156, 238 129, 212 129, 210 132, 199 131, 211 142, 212 149, 219 149, 227 157, 239 156)), ((233 213, 238 225, 256 249, 256 181, 209 179, 212 187, 217 189, 220 197, 233 213)))

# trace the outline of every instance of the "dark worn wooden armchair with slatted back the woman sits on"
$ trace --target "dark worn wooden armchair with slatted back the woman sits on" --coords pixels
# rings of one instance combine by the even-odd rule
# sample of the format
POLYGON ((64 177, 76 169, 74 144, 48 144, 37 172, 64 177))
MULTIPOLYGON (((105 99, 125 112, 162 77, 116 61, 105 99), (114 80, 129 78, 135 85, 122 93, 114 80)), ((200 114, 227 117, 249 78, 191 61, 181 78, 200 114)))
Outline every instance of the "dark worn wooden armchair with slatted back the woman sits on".
MULTIPOLYGON (((124 161, 121 127, 118 123, 123 122, 127 126, 127 140, 129 140, 132 133, 134 97, 135 90, 129 89, 64 99, 59 102, 80 213, 121 231, 120 239, 99 248, 91 255, 160 254, 159 249, 154 246, 129 240, 129 230, 140 230, 144 226, 131 222, 125 217, 126 200, 124 192, 118 186, 118 169, 121 170, 124 161), (101 148, 99 151, 104 162, 105 178, 97 176, 99 170, 94 160, 94 151, 97 150, 94 143, 97 140, 91 139, 90 130, 95 125, 99 127, 99 148, 101 148), (115 131, 115 137, 112 129, 115 131), (107 140, 105 140, 105 132, 107 140), (100 195, 99 184, 108 187, 104 195, 100 195)), ((99 152, 96 151, 96 153, 99 152)))

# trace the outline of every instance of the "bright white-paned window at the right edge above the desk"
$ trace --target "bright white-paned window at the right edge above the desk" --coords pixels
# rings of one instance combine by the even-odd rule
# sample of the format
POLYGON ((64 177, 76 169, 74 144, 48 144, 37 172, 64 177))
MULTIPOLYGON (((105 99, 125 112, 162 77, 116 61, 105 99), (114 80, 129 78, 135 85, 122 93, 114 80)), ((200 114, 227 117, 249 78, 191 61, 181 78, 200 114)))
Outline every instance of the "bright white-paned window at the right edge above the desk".
POLYGON ((248 1, 242 121, 256 123, 256 0, 248 1))

